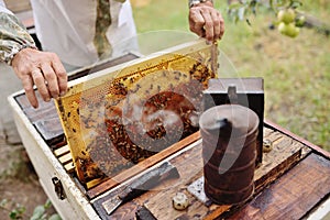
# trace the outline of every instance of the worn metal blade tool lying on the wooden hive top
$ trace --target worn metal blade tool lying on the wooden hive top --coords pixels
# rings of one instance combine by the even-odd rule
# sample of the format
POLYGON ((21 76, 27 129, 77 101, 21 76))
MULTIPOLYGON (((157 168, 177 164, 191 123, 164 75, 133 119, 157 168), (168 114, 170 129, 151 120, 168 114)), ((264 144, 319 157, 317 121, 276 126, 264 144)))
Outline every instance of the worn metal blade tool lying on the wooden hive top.
POLYGON ((177 168, 169 162, 165 162, 158 167, 143 174, 140 178, 135 179, 130 185, 125 186, 123 190, 116 197, 112 197, 109 200, 102 202, 102 207, 110 216, 121 205, 141 196, 145 191, 161 184, 163 180, 178 177, 179 174, 177 172, 177 168))

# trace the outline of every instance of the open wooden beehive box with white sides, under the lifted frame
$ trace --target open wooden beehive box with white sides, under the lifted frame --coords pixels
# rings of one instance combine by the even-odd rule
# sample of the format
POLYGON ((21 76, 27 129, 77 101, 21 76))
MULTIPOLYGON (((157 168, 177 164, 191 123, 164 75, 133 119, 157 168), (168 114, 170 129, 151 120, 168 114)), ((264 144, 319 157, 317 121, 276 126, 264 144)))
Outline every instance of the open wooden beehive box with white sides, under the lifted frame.
MULTIPOLYGON (((169 51, 189 51, 191 47, 194 51, 196 45, 205 44, 200 41, 190 42, 169 51)), ((200 55, 206 57, 205 53, 200 55)), ((131 54, 121 61, 127 63, 131 58, 136 56, 131 54)), ((155 56, 139 61, 145 62, 150 58, 155 56)), ((106 70, 112 73, 118 69, 117 62, 114 67, 106 70)), ((96 79, 103 74, 103 70, 97 70, 96 79)), ((77 73, 70 77, 76 78, 70 86, 94 79, 91 76, 84 76, 86 74, 79 75, 77 73)), ((10 96, 9 102, 40 182, 63 219, 134 219, 143 210, 148 217, 156 219, 319 219, 329 211, 330 154, 268 121, 264 123, 264 140, 273 143, 273 150, 264 153, 263 163, 255 170, 254 197, 241 206, 219 206, 206 205, 187 193, 191 183, 202 176, 199 132, 129 167, 116 175, 116 179, 97 179, 96 185, 91 183, 89 186, 94 187, 89 188, 77 176, 54 102, 41 101, 40 109, 34 110, 29 106, 23 91, 10 96), (178 169, 180 178, 163 183, 123 205, 112 216, 107 213, 105 204, 117 197, 128 183, 136 182, 145 172, 153 170, 165 162, 172 163, 178 169), (172 207, 172 196, 177 191, 188 195, 190 205, 185 211, 177 211, 172 207)))

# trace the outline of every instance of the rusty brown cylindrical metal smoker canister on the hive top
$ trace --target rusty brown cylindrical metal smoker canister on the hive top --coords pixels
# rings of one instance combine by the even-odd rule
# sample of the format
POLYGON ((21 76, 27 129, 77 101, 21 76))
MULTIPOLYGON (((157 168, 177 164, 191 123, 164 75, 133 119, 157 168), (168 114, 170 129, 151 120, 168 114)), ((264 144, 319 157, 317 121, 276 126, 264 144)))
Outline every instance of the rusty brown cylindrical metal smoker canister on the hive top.
POLYGON ((234 205, 254 191, 258 117, 239 105, 221 105, 199 119, 205 194, 216 204, 234 205))

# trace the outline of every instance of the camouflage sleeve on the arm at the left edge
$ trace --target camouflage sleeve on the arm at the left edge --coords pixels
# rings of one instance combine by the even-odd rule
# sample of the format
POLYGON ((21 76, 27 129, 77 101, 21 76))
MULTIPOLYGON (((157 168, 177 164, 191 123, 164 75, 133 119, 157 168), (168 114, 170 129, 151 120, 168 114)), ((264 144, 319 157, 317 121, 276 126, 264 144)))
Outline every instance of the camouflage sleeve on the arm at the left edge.
POLYGON ((13 14, 0 12, 0 61, 11 61, 22 48, 36 48, 24 25, 13 14))

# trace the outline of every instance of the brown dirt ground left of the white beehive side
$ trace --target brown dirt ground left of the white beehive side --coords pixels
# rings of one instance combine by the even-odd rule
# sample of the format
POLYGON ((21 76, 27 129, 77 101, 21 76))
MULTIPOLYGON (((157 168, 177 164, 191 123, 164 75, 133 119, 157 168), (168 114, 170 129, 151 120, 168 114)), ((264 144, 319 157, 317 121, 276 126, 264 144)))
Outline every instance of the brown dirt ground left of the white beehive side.
POLYGON ((37 176, 31 166, 21 144, 6 143, 0 139, 0 208, 1 219, 10 219, 9 215, 18 206, 25 207, 24 219, 29 219, 38 205, 44 205, 44 194, 37 176), (6 199, 6 200, 4 200, 6 199))

